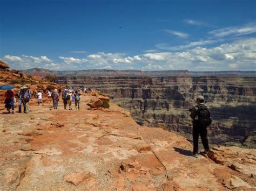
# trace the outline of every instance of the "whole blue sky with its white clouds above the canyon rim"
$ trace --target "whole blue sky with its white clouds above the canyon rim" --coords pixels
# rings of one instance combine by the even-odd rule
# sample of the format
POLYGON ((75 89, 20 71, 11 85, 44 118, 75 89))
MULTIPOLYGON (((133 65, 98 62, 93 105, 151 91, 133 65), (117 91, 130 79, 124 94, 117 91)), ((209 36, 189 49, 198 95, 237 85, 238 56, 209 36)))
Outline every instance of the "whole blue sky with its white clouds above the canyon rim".
POLYGON ((0 5, 0 59, 11 68, 256 70, 256 1, 0 5))

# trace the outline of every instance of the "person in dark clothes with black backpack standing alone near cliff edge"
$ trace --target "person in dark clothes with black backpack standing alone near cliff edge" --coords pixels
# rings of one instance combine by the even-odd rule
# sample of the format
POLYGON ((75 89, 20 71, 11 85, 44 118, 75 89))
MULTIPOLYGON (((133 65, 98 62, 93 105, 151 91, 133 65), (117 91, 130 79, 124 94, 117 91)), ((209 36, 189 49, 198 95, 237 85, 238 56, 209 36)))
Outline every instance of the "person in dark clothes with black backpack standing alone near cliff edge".
POLYGON ((190 109, 190 117, 193 119, 193 156, 198 158, 198 138, 201 137, 205 154, 209 151, 207 126, 212 123, 210 111, 204 105, 204 96, 198 96, 194 100, 197 105, 190 109))

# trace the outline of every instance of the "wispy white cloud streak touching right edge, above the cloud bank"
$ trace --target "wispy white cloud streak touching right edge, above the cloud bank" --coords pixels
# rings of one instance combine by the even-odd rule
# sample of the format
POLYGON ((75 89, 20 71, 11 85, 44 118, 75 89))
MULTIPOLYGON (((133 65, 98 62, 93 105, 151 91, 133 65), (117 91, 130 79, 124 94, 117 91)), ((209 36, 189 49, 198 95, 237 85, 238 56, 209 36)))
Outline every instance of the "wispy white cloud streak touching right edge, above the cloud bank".
POLYGON ((255 32, 256 32, 256 23, 249 23, 244 26, 226 27, 224 29, 210 31, 209 34, 212 34, 215 37, 225 37, 229 35, 242 36, 245 34, 251 34, 255 32))

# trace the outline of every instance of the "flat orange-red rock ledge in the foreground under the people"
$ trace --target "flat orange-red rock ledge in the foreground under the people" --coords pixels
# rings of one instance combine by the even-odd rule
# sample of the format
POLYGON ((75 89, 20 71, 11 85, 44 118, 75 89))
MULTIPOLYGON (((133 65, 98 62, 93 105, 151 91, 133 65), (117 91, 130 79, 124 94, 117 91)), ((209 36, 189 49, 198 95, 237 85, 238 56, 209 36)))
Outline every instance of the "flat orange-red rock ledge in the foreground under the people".
POLYGON ((139 126, 111 101, 109 109, 89 110, 86 103, 94 98, 82 95, 80 110, 64 110, 60 101, 57 110, 46 103, 31 105, 29 114, 0 114, 0 189, 256 188, 252 175, 228 167, 241 157, 248 167, 254 165, 253 150, 213 150, 217 159, 224 154, 223 165, 203 155, 193 158, 184 137, 139 126))

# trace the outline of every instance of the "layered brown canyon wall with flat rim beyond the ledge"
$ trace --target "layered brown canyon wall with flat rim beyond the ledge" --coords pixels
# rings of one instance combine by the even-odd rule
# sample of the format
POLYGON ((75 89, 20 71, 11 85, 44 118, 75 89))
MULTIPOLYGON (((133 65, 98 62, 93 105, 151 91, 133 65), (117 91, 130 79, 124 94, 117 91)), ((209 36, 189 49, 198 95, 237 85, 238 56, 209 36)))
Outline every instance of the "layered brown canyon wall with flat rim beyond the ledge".
POLYGON ((206 98, 213 124, 213 144, 256 148, 256 72, 188 70, 24 70, 29 75, 56 74, 57 83, 95 88, 110 94, 140 125, 158 126, 192 139, 189 108, 197 95, 206 98))

